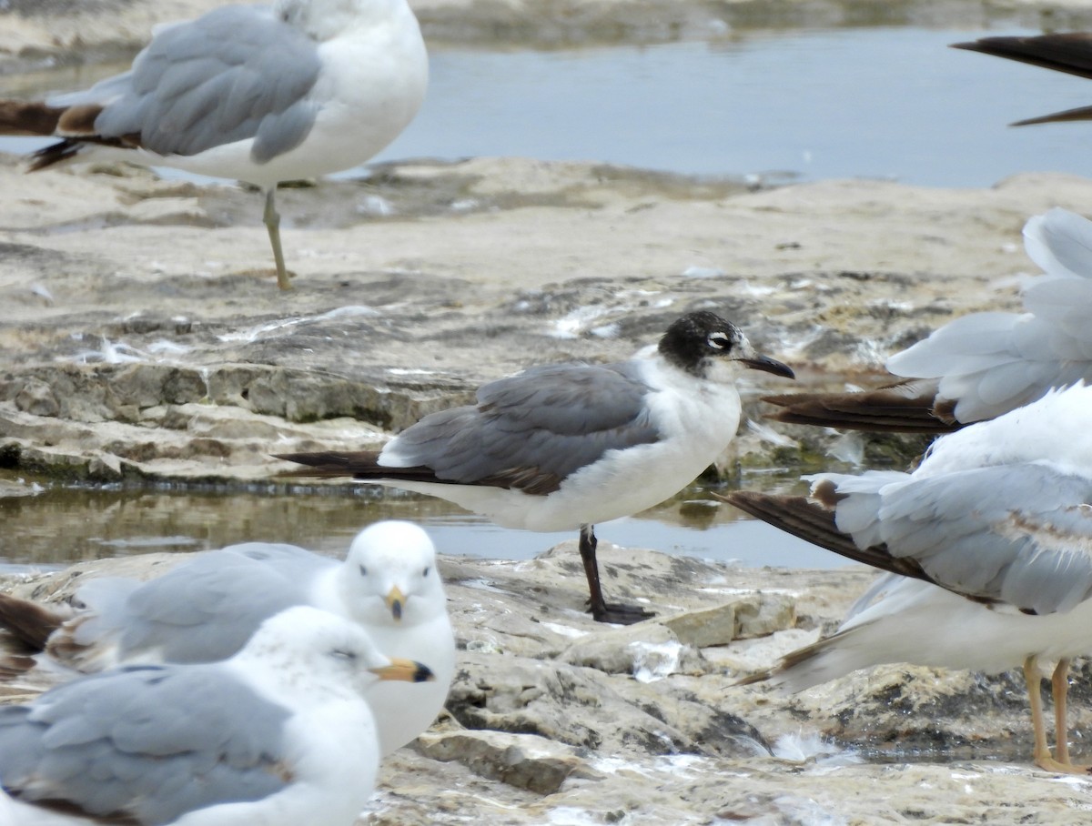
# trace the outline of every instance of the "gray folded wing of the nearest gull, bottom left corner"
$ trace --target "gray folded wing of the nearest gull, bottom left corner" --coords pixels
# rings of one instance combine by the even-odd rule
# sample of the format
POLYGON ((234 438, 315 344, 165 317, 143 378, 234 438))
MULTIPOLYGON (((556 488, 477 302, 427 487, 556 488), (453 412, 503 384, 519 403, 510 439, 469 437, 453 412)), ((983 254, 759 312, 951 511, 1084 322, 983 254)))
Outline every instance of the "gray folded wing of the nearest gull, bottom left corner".
POLYGON ((215 667, 107 671, 0 708, 0 778, 23 802, 159 826, 283 789, 288 717, 215 667))

